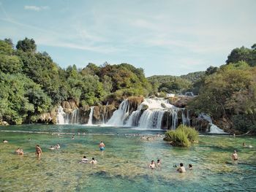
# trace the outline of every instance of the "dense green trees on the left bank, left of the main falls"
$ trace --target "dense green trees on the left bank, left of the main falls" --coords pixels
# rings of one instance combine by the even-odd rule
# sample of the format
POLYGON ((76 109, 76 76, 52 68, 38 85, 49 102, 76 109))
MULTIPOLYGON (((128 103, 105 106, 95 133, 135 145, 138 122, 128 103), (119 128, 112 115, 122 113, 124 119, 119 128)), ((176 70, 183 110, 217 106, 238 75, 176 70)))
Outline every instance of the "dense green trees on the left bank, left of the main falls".
POLYGON ((143 69, 108 63, 61 69, 27 38, 16 47, 11 39, 0 40, 0 87, 0 120, 12 124, 36 122, 40 114, 67 99, 83 107, 152 92, 143 69))

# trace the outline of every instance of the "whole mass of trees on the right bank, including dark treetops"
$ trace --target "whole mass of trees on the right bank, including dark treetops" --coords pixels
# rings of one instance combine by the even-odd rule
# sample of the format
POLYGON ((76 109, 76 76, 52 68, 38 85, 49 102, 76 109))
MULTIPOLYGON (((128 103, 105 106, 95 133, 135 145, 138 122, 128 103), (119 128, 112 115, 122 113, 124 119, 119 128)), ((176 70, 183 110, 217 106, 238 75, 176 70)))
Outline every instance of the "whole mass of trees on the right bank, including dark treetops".
POLYGON ((210 115, 227 130, 256 132, 256 45, 232 50, 226 63, 207 69, 189 109, 210 115))

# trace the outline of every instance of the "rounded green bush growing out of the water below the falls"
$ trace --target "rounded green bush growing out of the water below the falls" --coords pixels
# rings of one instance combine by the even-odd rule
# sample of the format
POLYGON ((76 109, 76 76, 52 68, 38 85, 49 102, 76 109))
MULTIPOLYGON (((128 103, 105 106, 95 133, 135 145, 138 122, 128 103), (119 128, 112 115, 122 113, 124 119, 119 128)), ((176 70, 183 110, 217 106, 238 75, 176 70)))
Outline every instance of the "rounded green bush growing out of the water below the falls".
POLYGON ((165 141, 171 142, 171 145, 189 147, 191 142, 197 142, 198 132, 195 128, 180 125, 175 131, 165 133, 165 141))

